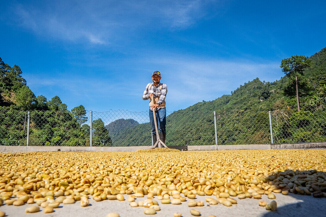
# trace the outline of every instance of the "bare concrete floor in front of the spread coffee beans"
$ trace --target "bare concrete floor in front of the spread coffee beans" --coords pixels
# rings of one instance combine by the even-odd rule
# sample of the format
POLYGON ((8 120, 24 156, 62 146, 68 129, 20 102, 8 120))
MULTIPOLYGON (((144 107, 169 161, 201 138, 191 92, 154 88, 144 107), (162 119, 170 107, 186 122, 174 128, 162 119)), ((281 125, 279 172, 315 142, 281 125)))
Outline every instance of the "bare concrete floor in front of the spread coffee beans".
MULTIPOLYGON (((217 205, 208 205, 205 198, 208 196, 197 196, 196 201, 204 201, 203 207, 188 207, 187 201, 182 202, 181 205, 172 205, 172 204, 161 204, 158 201, 158 204, 161 208, 160 211, 157 211, 156 217, 165 217, 165 216, 173 216, 174 212, 182 213, 183 217, 192 216, 190 214, 191 209, 198 209, 201 212, 202 217, 207 217, 209 215, 215 215, 218 217, 221 216, 326 216, 326 198, 314 198, 313 196, 307 195, 282 195, 275 194, 277 202, 277 211, 269 211, 264 207, 260 207, 258 205, 257 199, 246 198, 246 199, 238 199, 238 197, 233 197, 237 200, 237 204, 233 204, 232 207, 226 207, 222 204, 217 205)), ((272 200, 267 198, 267 195, 262 195, 261 200, 265 200, 267 203, 270 203, 272 200)), ((129 197, 129 195, 124 195, 125 199, 129 197)), ((215 196, 209 196, 215 198, 215 196)), ((137 198, 136 201, 145 200, 145 197, 137 198)), ((155 199, 155 198, 154 198, 155 199)), ((80 207, 80 201, 77 201, 75 204, 60 204, 59 208, 54 209, 53 213, 44 213, 44 208, 40 208, 41 211, 37 213, 25 213, 25 209, 30 206, 35 206, 36 204, 28 204, 23 206, 8 206, 2 205, 0 206, 0 210, 6 212, 7 216, 36 216, 36 217, 54 217, 54 216, 103 216, 105 217, 110 212, 117 212, 121 217, 129 217, 129 216, 148 216, 145 215, 143 207, 130 207, 129 202, 118 201, 118 200, 104 200, 101 202, 95 202, 90 198, 90 206, 88 207, 80 207), (61 208, 60 208, 61 207, 61 208)))

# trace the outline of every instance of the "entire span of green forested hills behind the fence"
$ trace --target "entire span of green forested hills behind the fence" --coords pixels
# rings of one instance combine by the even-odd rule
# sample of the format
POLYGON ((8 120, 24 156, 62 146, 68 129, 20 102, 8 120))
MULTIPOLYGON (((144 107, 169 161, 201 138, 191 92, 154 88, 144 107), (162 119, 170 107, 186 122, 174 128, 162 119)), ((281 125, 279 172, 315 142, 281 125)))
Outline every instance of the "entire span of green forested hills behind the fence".
MULTIPOLYGON (((291 110, 297 104, 293 77, 284 76, 274 82, 256 78, 231 94, 168 115, 166 144, 215 144, 213 111, 216 111, 218 144, 270 143, 267 111, 276 114, 284 109, 288 109, 288 115, 277 122, 276 143, 311 142, 312 137, 325 141, 326 115, 307 117, 325 111, 326 48, 309 59, 311 67, 298 76, 301 111, 291 110)), ((80 105, 69 111, 58 96, 51 100, 35 96, 21 74, 19 66, 11 67, 0 58, 0 145, 26 144, 28 110, 31 145, 88 146, 90 126, 85 124, 88 121, 85 108, 80 105)), ((97 119, 92 126, 94 146, 151 144, 149 123, 118 119, 105 126, 97 119)))

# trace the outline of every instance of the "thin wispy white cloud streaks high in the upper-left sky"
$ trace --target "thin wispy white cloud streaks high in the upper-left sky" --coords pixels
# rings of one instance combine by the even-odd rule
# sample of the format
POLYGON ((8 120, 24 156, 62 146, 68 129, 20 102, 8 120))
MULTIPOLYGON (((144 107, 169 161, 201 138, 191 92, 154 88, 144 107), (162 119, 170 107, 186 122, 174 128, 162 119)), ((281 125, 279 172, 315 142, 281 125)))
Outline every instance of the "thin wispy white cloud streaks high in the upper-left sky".
MULTIPOLYGON (((81 43, 111 44, 147 29, 188 28, 206 16, 212 1, 56 1, 21 3, 11 21, 36 34, 81 43)), ((11 16, 12 17, 12 16, 11 16)))

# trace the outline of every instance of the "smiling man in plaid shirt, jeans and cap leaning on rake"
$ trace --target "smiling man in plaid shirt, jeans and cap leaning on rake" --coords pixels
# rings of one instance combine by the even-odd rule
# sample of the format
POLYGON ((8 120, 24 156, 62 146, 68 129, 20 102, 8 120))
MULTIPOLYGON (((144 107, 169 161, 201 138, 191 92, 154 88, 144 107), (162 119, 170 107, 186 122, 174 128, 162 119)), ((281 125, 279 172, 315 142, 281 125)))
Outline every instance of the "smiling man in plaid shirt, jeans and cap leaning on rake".
POLYGON ((152 99, 149 103, 149 120, 151 121, 152 125, 152 135, 153 135, 153 143, 155 144, 157 141, 156 138, 156 130, 155 130, 155 123, 154 123, 154 116, 153 116, 153 109, 156 109, 156 122, 157 128, 159 132, 160 140, 165 143, 165 124, 166 124, 166 110, 165 110, 165 97, 168 92, 168 88, 166 84, 160 83, 161 80, 161 73, 159 71, 155 71, 152 74, 153 83, 147 84, 144 94, 143 100, 151 99, 151 96, 154 97, 154 102, 152 99))

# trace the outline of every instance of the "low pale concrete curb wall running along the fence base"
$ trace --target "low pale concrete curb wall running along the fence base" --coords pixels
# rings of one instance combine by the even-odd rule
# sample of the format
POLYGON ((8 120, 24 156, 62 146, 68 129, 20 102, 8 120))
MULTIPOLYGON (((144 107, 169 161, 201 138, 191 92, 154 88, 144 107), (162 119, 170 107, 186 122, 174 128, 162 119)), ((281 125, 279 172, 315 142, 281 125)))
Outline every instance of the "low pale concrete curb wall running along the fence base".
MULTIPOLYGON (((271 149, 326 149, 326 142, 300 143, 300 144, 262 144, 262 145, 191 145, 191 146, 168 146, 180 151, 215 151, 215 150, 271 150, 271 149)), ((150 146, 129 147, 67 147, 67 146, 0 146, 0 152, 133 152, 149 149, 150 146)))

